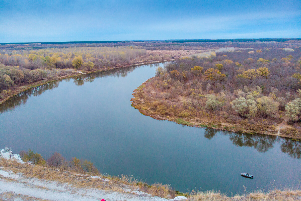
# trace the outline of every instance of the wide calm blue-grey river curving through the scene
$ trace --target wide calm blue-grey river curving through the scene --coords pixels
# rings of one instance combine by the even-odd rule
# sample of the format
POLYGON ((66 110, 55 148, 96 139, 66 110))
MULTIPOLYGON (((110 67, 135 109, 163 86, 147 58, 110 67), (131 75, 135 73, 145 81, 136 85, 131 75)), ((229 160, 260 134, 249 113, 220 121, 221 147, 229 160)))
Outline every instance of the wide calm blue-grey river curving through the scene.
POLYGON ((67 160, 91 160, 102 174, 133 175, 182 192, 299 187, 299 141, 182 126, 133 108, 133 90, 158 65, 164 64, 81 75, 14 96, 0 105, 0 149, 30 148, 46 159, 59 152, 67 160))

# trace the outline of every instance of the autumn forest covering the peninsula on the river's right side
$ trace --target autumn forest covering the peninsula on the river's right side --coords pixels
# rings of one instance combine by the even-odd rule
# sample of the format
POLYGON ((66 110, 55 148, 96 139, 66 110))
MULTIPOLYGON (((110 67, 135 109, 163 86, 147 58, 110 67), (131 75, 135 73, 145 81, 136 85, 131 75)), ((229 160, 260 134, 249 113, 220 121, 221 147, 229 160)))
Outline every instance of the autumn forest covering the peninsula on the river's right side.
POLYGON ((181 124, 300 139, 300 43, 245 45, 157 68, 156 76, 135 90, 133 105, 181 124))

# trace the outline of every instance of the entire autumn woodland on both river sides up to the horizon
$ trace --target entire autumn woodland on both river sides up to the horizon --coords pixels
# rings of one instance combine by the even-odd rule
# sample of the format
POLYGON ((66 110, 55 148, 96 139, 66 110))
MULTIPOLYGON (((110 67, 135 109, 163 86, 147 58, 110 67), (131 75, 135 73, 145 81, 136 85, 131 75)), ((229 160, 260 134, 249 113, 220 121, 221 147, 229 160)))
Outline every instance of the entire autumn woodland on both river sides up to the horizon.
POLYGON ((137 90, 143 113, 300 138, 300 47, 299 39, 1 44, 0 101, 51 80, 176 59, 137 90))

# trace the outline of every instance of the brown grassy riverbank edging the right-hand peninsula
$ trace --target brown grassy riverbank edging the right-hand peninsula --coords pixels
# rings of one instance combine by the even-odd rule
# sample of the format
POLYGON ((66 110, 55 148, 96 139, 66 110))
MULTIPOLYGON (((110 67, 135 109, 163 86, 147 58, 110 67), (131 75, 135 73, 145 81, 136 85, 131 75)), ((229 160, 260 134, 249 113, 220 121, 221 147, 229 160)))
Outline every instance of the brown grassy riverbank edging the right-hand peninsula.
MULTIPOLYGON (((214 121, 215 117, 211 118, 191 118, 191 117, 178 117, 178 116, 170 116, 164 112, 158 111, 154 108, 151 108, 151 102, 146 102, 145 100, 149 100, 151 97, 147 97, 143 90, 145 89, 145 84, 150 82, 154 77, 148 79, 144 83, 142 83, 137 89, 134 90, 132 94, 134 98, 131 99, 132 106, 138 109, 143 115, 150 116, 157 120, 168 120, 173 121, 178 124, 192 126, 192 127, 203 127, 203 128, 212 128, 217 130, 226 130, 231 132, 242 132, 242 133, 259 133, 266 134, 272 136, 280 136, 287 137, 290 139, 301 140, 301 135, 296 132, 296 130, 290 125, 284 124, 281 121, 277 126, 265 124, 261 122, 261 124, 249 124, 247 121, 237 121, 235 123, 229 122, 221 122, 214 121)), ((147 89, 151 91, 152 89, 147 89)))

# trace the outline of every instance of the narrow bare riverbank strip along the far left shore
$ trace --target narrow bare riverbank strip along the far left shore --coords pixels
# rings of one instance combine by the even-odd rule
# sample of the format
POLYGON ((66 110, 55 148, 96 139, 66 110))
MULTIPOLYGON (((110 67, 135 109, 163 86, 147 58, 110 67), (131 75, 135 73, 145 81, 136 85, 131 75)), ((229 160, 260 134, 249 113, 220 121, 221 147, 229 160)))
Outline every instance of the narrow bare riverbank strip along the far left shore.
POLYGON ((7 101, 8 99, 10 99, 12 96, 17 95, 18 93, 24 92, 26 90, 29 90, 33 87, 36 86, 41 86, 43 84, 47 84, 50 82, 54 82, 54 81, 58 81, 58 80, 63 80, 66 78, 70 78, 70 77, 76 77, 78 75, 83 75, 83 74, 91 74, 91 73, 96 73, 96 72, 100 72, 100 71, 107 71, 107 70, 111 70, 111 69, 116 69, 116 68, 126 68, 126 67, 134 67, 134 66, 141 66, 141 65, 148 65, 148 64, 156 64, 156 63, 162 63, 162 62, 167 62, 167 61, 174 61, 175 59, 160 59, 160 60, 151 60, 151 61, 144 61, 144 62, 138 62, 135 64, 129 64, 129 65, 119 65, 116 67, 112 67, 112 68, 107 68, 107 69, 98 69, 96 71, 79 71, 76 69, 69 69, 69 70, 73 70, 71 73, 65 75, 65 76, 61 76, 57 79, 44 79, 44 80, 40 80, 38 82, 35 83, 29 83, 29 84, 23 84, 23 85, 18 85, 15 86, 14 89, 11 90, 10 94, 7 94, 4 99, 2 99, 0 101, 0 105, 7 101))

